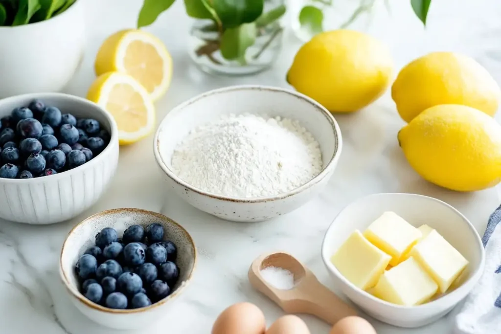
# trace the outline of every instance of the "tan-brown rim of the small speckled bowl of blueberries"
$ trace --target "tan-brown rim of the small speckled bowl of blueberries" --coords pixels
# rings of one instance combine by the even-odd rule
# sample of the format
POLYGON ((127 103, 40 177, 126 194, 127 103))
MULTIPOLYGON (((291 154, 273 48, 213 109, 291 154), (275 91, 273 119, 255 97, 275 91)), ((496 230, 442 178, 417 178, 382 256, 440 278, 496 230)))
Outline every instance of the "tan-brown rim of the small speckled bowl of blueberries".
POLYGON ((93 308, 93 309, 98 310, 98 311, 106 312, 106 313, 112 313, 112 314, 130 314, 130 313, 140 313, 140 312, 148 311, 148 310, 150 310, 152 308, 161 306, 161 305, 165 304, 167 301, 170 301, 170 300, 174 299, 175 297, 177 297, 179 294, 181 294, 181 292, 186 288, 186 286, 188 285, 188 283, 193 278, 193 273, 195 272, 196 265, 197 265, 197 250, 196 250, 195 242, 193 241, 193 238, 188 233, 188 231, 186 231, 186 229, 181 224, 179 224, 178 222, 174 221, 173 219, 171 219, 171 218, 169 218, 169 217, 167 217, 167 216, 165 216, 165 215, 163 215, 161 213, 158 213, 158 212, 144 210, 144 209, 138 209, 138 208, 117 208, 117 209, 110 209, 110 210, 105 210, 105 211, 97 212, 97 213, 95 213, 95 214, 93 214, 93 215, 85 218, 81 222, 79 222, 77 225, 75 225, 70 230, 70 232, 68 232, 68 235, 66 236, 66 238, 65 238, 65 240, 63 242, 63 246, 61 247, 61 254, 59 256, 59 276, 60 276, 61 280, 63 281, 64 285, 66 286, 66 289, 70 292, 70 294, 72 294, 80 302, 82 302, 83 304, 89 306, 90 308, 93 308), (164 220, 164 221, 167 220, 171 224, 176 225, 182 231, 182 233, 184 234, 184 236, 186 237, 186 239, 189 241, 189 243, 193 247, 193 253, 194 253, 194 256, 193 256, 193 268, 191 269, 190 273, 188 274, 188 278, 185 279, 184 281, 182 281, 181 285, 179 285, 179 287, 177 289, 175 289, 167 297, 165 297, 165 298, 163 298, 163 299, 161 299, 161 300, 159 300, 159 301, 157 301, 157 302, 155 302, 155 303, 153 303, 153 304, 151 304, 149 306, 146 306, 146 307, 131 308, 131 309, 114 309, 114 308, 108 308, 108 307, 96 304, 93 301, 90 301, 89 299, 85 298, 85 296, 78 289, 74 288, 69 283, 69 279, 67 277, 67 273, 63 269, 63 253, 64 253, 64 250, 65 250, 66 241, 68 241, 68 238, 70 237, 70 235, 74 232, 74 230, 77 227, 79 227, 80 225, 83 225, 85 223, 88 223, 90 220, 92 220, 94 218, 97 218, 99 216, 108 215, 108 214, 116 213, 116 212, 123 212, 123 211, 129 211, 129 212, 132 211, 132 212, 141 213, 141 214, 153 215, 153 216, 156 216, 156 217, 160 218, 161 220, 164 220))

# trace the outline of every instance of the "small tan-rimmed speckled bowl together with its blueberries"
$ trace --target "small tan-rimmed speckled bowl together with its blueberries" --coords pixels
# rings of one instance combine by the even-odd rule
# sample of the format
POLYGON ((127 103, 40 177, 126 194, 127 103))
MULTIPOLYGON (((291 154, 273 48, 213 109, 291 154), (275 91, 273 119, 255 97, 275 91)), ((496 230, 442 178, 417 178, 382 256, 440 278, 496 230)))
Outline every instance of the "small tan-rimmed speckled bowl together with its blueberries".
POLYGON ((61 278, 85 315, 116 329, 161 318, 187 285, 196 248, 179 224, 159 213, 113 209, 78 224, 61 251, 61 278))

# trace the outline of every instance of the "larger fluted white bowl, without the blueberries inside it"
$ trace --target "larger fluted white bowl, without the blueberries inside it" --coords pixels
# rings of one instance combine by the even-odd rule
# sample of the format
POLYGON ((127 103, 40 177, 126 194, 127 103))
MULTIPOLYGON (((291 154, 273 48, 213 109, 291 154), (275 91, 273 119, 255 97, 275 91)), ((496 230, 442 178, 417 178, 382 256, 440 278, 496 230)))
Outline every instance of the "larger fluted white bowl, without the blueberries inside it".
POLYGON ((118 130, 113 116, 95 103, 61 93, 40 93, 0 100, 0 117, 10 115, 33 99, 63 113, 98 120, 109 131, 108 146, 91 161, 55 175, 33 179, 0 178, 0 218, 28 224, 52 224, 71 219, 103 194, 118 164, 118 130))

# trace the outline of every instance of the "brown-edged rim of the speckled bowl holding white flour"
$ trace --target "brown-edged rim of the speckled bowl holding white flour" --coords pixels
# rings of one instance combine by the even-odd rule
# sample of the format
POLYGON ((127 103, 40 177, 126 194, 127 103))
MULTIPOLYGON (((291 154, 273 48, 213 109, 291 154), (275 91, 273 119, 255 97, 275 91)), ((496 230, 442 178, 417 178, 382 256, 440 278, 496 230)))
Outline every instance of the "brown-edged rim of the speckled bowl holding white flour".
MULTIPOLYGON (((314 136, 315 137, 315 136, 314 136)), ((285 88, 280 88, 280 87, 273 87, 273 86, 263 86, 263 85, 234 85, 234 86, 227 86, 223 88, 218 88, 214 90, 207 91, 205 93, 196 95, 195 97, 192 97, 181 104, 177 105, 173 109, 171 109, 170 112, 165 115, 165 117, 162 119, 160 122, 157 131, 155 133, 155 137, 153 140, 153 154, 155 156, 155 160, 158 164, 158 166, 163 170, 167 176, 172 179, 174 182, 176 182, 178 185, 189 189, 195 193, 198 193, 202 196, 207 196, 211 197, 214 199, 218 200, 223 200, 223 201, 229 201, 229 202, 235 202, 235 203, 264 203, 264 202, 270 202, 270 201, 276 201, 276 200, 281 200, 285 199, 287 197, 294 196, 300 192, 303 192, 304 190, 311 188, 313 185, 317 184, 318 182, 322 181, 326 176, 330 174, 330 172, 335 168, 336 162, 339 160, 339 157, 341 155, 343 147, 343 139, 341 136, 341 129, 339 128, 339 125, 332 115, 324 106, 322 106, 320 103, 317 101, 313 100, 312 98, 301 94, 299 92, 295 92, 289 89, 285 88), (303 185, 294 188, 288 192, 281 193, 278 195, 272 195, 272 196, 266 196, 266 197, 234 197, 234 196, 225 196, 225 195, 219 195, 211 192, 204 191, 200 188, 194 187, 193 185, 187 183, 186 181, 182 180, 179 178, 169 167, 167 167, 167 164, 163 161, 162 155, 160 154, 159 151, 159 145, 160 145, 160 139, 159 135, 162 132, 162 129, 164 127, 164 124, 168 121, 168 117, 170 115, 174 114, 181 114, 183 110, 199 101, 203 100, 208 96, 214 95, 214 94, 225 94, 225 93, 231 93, 234 91, 268 91, 268 92, 274 92, 274 93, 285 93, 292 95, 296 98, 302 99, 306 102, 308 102, 313 108, 317 109, 322 113, 322 115, 325 117, 326 121, 328 121, 331 125, 331 128, 333 130, 334 137, 336 138, 336 143, 335 143, 335 148, 334 148, 334 153, 332 154, 331 159, 329 162, 324 166, 322 171, 317 174, 315 177, 310 179, 308 182, 304 183, 303 185)))

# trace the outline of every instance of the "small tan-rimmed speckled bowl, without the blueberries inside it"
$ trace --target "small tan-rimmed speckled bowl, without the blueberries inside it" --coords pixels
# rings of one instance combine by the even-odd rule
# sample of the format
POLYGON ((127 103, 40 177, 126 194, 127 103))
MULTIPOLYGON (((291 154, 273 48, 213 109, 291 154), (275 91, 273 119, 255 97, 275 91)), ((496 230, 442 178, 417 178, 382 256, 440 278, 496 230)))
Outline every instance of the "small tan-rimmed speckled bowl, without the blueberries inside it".
POLYGON ((75 226, 66 238, 61 250, 60 275, 75 306, 89 319, 115 329, 137 329, 149 325, 168 312, 174 298, 182 293, 191 280, 196 264, 196 248, 186 230, 170 218, 141 209, 113 209, 96 213, 75 226), (98 305, 82 295, 75 273, 75 265, 85 250, 95 245, 96 234, 104 227, 113 227, 121 236, 130 225, 146 226, 160 223, 165 228, 165 240, 177 246, 176 264, 179 267, 179 280, 173 292, 148 307, 136 309, 110 309, 98 305))

